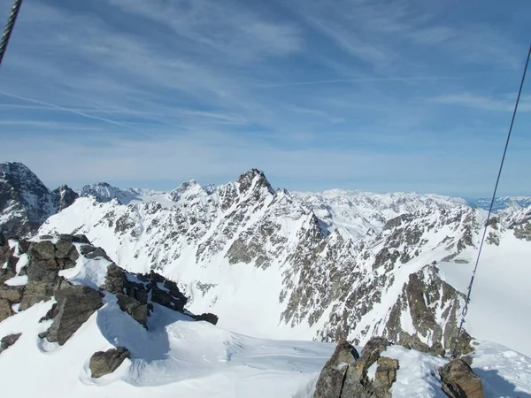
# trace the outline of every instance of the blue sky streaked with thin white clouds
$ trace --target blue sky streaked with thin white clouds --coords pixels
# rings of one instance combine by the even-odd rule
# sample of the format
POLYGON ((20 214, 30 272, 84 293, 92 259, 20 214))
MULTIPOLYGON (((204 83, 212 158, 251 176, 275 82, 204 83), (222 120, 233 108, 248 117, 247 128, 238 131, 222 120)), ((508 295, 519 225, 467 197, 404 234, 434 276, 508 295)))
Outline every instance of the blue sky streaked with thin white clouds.
MULTIPOLYGON (((11 0, 0 0, 4 19, 11 0)), ((489 195, 527 0, 25 0, 0 68, 0 161, 54 188, 489 195)), ((527 81, 500 195, 531 195, 527 81)))

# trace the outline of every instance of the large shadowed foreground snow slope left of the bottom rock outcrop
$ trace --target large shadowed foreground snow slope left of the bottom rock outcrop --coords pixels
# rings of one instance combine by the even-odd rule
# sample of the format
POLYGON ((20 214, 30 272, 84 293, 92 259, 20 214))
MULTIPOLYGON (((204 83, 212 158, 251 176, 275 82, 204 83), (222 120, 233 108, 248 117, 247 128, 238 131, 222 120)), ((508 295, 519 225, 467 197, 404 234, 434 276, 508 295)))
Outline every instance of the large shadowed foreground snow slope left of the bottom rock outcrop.
POLYGON ((43 345, 38 323, 52 301, 0 324, 0 336, 22 333, 0 355, 2 392, 19 397, 292 397, 308 386, 334 345, 253 339, 155 305, 149 332, 121 312, 111 295, 64 346, 43 345), (126 347, 131 358, 92 379, 96 351, 126 347), (138 388, 142 387, 142 388, 138 388))

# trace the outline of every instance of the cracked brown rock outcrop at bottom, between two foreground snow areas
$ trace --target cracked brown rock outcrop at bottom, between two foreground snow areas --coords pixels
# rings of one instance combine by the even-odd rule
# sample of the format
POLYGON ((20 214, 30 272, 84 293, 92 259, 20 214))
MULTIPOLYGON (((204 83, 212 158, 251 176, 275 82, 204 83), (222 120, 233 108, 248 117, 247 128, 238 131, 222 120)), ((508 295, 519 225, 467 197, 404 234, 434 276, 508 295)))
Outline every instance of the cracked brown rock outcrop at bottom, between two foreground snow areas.
POLYGON ((333 356, 321 371, 314 398, 390 398, 389 388, 396 381, 398 361, 381 357, 389 341, 375 337, 358 355, 356 348, 340 341, 333 356), (369 367, 378 361, 374 381, 367 377, 369 367))

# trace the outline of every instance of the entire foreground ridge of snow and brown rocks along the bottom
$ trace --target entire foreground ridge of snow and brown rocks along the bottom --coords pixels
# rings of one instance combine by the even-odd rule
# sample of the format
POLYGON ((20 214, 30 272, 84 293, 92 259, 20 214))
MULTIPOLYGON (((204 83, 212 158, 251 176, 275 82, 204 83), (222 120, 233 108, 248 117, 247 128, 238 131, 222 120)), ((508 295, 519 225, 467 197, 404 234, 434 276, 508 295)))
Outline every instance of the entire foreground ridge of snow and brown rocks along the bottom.
POLYGON ((411 336, 400 344, 376 337, 362 349, 346 341, 335 347, 229 332, 215 325, 213 314, 185 310, 187 299, 173 281, 156 272, 125 271, 84 235, 4 241, 0 263, 4 260, 4 394, 494 398, 531 393, 531 358, 489 341, 473 341, 471 354, 450 361, 441 347, 428 348, 411 336), (456 390, 466 395, 451 395, 456 390))

